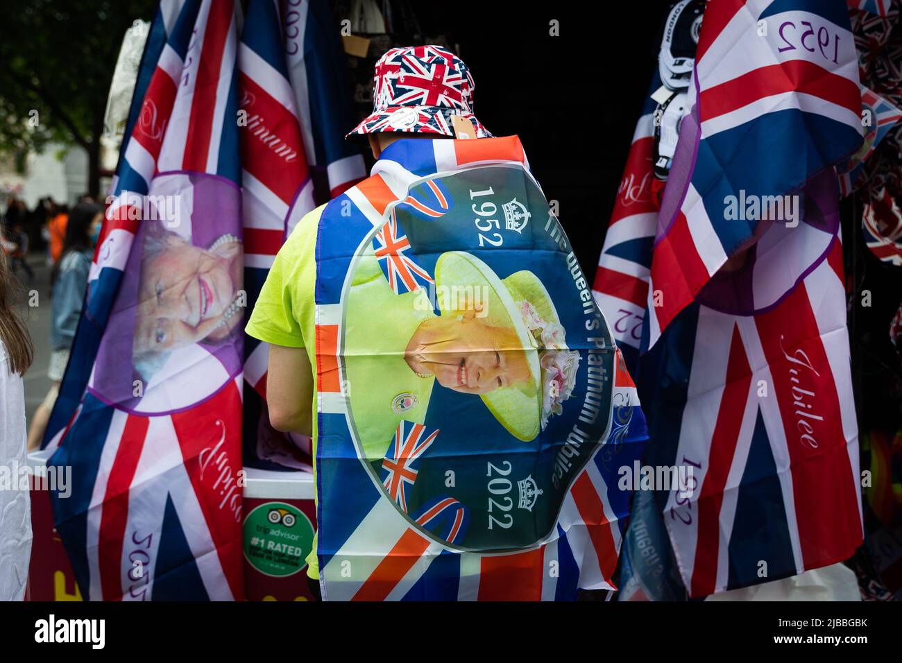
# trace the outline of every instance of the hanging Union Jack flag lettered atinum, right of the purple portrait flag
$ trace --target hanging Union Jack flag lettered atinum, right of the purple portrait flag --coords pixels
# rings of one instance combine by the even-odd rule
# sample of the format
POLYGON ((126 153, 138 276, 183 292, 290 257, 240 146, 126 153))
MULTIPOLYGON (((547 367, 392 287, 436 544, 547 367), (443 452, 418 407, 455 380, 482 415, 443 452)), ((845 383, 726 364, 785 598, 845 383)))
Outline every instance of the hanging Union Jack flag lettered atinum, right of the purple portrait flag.
MULTIPOLYGON (((238 69, 244 284, 246 311, 250 315, 276 253, 299 218, 314 207, 313 182, 289 81, 278 0, 252 0, 248 5, 238 69)), ((245 461, 259 465, 281 460, 281 465, 301 467, 299 459, 291 454, 296 448, 294 443, 265 423, 260 425, 261 419, 268 423, 263 399, 269 344, 251 336, 245 336, 244 343, 244 379, 254 390, 245 392, 245 461)), ((308 448, 306 451, 309 453, 308 448)))

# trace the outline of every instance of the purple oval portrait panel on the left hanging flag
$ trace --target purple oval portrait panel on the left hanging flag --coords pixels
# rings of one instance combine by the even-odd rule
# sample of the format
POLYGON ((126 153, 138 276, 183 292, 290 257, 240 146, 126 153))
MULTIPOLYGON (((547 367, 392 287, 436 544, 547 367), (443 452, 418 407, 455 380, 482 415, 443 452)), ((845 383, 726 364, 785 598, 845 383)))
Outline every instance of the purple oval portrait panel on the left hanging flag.
POLYGON ((145 205, 89 388, 141 413, 203 401, 241 370, 244 244, 238 191, 223 178, 161 174, 145 205), (130 360, 124 369, 123 358, 130 360), (193 370, 186 370, 191 367, 193 370), (193 376, 193 377, 189 377, 193 376))

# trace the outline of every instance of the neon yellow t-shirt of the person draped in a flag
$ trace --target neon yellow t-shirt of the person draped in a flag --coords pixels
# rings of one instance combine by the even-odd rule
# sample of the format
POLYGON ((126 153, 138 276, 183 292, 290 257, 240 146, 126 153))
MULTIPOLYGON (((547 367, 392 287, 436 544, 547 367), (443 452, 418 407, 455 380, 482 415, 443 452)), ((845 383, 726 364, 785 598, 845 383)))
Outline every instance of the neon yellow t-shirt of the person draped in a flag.
MULTIPOLYGON (((325 205, 308 212, 291 231, 272 263, 260 297, 253 307, 251 320, 244 331, 261 341, 283 347, 313 347, 315 343, 315 301, 317 261, 315 247, 319 217, 325 205)), ((308 352, 311 373, 317 374, 317 358, 308 352)), ((313 402, 313 456, 317 455, 317 393, 313 402)), ((316 464, 313 465, 314 482, 316 464)), ((317 537, 313 538, 313 550, 307 557, 307 575, 319 578, 317 537)))

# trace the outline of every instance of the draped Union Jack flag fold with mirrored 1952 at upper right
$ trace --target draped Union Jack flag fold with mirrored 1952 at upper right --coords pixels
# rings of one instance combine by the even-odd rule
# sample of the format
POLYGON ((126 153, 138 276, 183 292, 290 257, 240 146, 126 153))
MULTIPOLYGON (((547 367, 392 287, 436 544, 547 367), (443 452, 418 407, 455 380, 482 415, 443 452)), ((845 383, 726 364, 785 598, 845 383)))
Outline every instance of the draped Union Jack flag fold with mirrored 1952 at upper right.
POLYGON ((727 196, 786 195, 861 147, 846 5, 708 3, 690 91, 658 216, 647 346, 756 235, 758 220, 725 217, 727 196))

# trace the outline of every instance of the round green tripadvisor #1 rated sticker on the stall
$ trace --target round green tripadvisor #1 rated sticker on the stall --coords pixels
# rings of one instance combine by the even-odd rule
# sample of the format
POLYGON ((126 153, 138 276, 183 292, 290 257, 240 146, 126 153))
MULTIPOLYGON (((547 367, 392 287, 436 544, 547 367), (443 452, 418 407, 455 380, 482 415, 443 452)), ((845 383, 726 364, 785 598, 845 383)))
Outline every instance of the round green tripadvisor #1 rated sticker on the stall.
POLYGON ((267 576, 284 577, 307 566, 313 525, 285 502, 266 502, 244 519, 244 557, 267 576))

